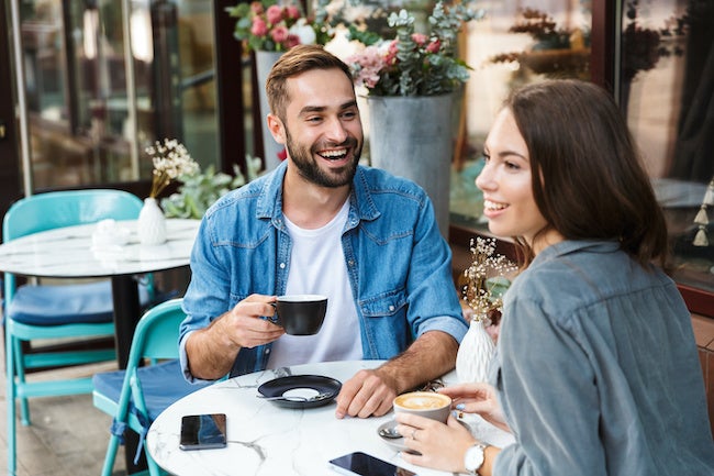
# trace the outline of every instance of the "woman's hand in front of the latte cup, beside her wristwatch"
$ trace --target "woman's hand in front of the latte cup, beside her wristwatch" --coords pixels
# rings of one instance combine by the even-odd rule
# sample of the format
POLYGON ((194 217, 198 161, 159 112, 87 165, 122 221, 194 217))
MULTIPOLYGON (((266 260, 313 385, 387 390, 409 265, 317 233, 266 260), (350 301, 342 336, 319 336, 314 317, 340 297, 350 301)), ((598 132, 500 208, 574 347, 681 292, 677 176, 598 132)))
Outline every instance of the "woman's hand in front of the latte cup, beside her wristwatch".
POLYGON ((397 431, 404 445, 421 455, 402 452, 406 463, 450 473, 465 473, 464 455, 477 440, 449 414, 446 424, 410 413, 397 413, 397 431))

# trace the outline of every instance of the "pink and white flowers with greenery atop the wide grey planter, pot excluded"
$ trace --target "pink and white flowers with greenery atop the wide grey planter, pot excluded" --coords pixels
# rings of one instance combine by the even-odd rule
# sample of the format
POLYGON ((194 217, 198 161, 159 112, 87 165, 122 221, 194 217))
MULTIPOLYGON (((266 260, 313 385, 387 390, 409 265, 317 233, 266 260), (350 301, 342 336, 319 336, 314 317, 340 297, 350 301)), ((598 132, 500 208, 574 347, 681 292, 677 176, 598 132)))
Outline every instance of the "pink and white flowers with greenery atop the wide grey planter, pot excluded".
POLYGON ((365 45, 345 59, 356 85, 365 86, 370 96, 436 96, 459 88, 469 79, 470 68, 457 57, 457 35, 466 22, 484 14, 472 3, 437 2, 428 16, 428 33, 415 31, 414 16, 406 10, 389 14, 392 40, 352 27, 350 38, 365 45))

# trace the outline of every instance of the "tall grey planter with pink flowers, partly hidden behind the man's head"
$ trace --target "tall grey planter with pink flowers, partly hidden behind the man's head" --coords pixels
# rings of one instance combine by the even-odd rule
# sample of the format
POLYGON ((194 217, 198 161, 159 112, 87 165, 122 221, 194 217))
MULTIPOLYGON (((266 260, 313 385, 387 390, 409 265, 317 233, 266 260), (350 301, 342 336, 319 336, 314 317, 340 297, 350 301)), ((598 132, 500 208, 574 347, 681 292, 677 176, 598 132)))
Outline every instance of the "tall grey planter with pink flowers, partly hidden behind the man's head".
POLYGON ((237 19, 233 35, 242 42, 244 52, 255 52, 256 77, 260 88, 263 155, 265 168, 270 170, 283 156, 283 147, 272 139, 265 120, 270 109, 264 86, 270 68, 285 52, 295 45, 325 44, 331 38, 330 30, 325 23, 306 15, 302 3, 297 0, 238 2, 226 11, 237 19))

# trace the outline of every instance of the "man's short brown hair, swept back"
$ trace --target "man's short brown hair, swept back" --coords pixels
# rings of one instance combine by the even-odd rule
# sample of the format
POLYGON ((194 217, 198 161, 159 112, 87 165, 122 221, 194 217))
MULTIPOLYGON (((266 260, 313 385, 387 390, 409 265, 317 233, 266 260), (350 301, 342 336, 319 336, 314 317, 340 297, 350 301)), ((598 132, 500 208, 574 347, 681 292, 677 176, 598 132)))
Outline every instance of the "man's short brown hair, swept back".
POLYGON ((349 82, 353 82, 352 71, 342 59, 320 45, 298 45, 290 48, 276 62, 266 80, 266 95, 270 111, 285 121, 288 104, 288 78, 313 69, 339 69, 349 82))

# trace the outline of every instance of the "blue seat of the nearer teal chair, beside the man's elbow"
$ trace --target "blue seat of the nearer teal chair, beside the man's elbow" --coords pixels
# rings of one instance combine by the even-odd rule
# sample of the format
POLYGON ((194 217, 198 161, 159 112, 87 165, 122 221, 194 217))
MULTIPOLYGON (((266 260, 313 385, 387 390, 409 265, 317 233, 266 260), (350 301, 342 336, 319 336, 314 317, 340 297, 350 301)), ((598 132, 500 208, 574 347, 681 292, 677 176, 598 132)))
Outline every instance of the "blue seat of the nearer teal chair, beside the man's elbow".
MULTIPOLYGON (((178 346, 178 343, 176 344, 178 346)), ((211 383, 190 384, 183 378, 179 361, 167 361, 157 365, 138 368, 138 379, 144 392, 144 401, 150 421, 176 400, 211 385, 211 383)), ((124 370, 94 374, 94 392, 118 402, 124 383, 124 370)), ((137 414, 136 407, 130 403, 130 411, 137 414)))

